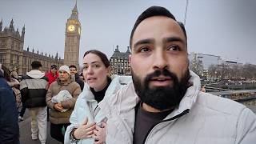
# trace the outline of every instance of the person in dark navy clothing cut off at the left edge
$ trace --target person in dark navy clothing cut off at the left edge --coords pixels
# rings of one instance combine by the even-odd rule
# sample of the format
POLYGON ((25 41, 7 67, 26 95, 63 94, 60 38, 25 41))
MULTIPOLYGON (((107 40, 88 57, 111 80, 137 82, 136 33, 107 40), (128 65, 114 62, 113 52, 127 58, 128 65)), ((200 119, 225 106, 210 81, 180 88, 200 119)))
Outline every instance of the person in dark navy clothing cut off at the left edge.
MULTIPOLYGON (((19 144, 18 110, 14 93, 4 78, 0 63, 0 143, 19 144)), ((8 69, 7 69, 8 70, 8 69)))

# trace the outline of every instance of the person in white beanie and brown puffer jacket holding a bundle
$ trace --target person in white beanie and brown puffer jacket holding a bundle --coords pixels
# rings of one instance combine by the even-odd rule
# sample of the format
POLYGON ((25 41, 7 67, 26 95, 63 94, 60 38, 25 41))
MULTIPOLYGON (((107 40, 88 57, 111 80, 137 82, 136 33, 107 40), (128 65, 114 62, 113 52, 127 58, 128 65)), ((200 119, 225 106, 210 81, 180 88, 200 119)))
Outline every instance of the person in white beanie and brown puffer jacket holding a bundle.
POLYGON ((53 82, 46 94, 46 103, 50 108, 50 135, 59 142, 64 142, 64 135, 62 134, 62 127, 65 128, 70 125, 70 115, 74 110, 74 104, 81 93, 81 88, 77 82, 71 80, 69 66, 61 66, 58 69, 58 78, 53 82), (53 102, 52 98, 58 94, 63 94, 67 91, 72 98, 63 100, 61 102, 53 102), (67 109, 64 111, 64 109, 67 109))

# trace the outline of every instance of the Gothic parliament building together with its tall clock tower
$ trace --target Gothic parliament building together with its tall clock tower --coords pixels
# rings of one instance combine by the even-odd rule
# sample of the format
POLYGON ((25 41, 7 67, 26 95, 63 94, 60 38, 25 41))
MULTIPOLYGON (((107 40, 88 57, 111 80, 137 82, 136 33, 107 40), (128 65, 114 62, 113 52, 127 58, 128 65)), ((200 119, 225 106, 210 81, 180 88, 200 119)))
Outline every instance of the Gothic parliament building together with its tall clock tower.
POLYGON ((31 63, 39 61, 42 63, 42 71, 50 70, 50 66, 71 64, 79 67, 79 44, 80 44, 81 24, 78 20, 77 3, 72 10, 70 18, 66 22, 66 38, 65 38, 65 53, 64 59, 58 56, 58 53, 53 56, 50 54, 43 54, 34 48, 29 47, 23 50, 25 39, 25 25, 20 33, 18 28, 14 29, 14 20, 10 22, 10 26, 3 28, 2 20, 0 22, 0 63, 9 68, 9 70, 16 70, 18 75, 26 74, 30 71, 31 63))

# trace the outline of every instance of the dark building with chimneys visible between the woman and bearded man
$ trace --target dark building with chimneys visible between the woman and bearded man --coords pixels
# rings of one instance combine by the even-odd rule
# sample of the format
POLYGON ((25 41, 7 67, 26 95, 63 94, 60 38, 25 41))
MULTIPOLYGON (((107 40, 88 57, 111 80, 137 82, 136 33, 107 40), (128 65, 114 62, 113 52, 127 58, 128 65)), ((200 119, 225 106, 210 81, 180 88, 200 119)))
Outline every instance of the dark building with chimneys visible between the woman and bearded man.
POLYGON ((112 74, 130 75, 129 63, 130 47, 127 46, 125 53, 120 52, 118 46, 114 50, 114 54, 110 58, 110 65, 112 67, 112 74))

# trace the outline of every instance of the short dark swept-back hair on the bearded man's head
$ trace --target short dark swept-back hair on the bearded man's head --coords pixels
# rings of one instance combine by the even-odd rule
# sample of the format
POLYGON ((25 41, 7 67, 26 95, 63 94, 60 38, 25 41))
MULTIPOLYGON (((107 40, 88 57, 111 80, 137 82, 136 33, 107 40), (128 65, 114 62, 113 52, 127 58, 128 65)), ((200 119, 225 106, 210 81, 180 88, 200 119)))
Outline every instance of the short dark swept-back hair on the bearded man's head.
MULTIPOLYGON (((164 7, 161 6, 151 6, 150 8, 146 9, 142 14, 138 16, 138 19, 136 20, 134 24, 133 30, 131 30, 130 34, 130 49, 132 48, 131 41, 132 38, 134 37, 134 31, 136 30, 137 26, 146 18, 154 17, 154 16, 165 16, 167 18, 171 18, 174 21, 176 21, 176 18, 174 17, 173 14, 170 13, 169 10, 167 10, 164 7)), ((176 21, 178 22, 178 21, 176 21)), ((178 22, 178 25, 181 26, 183 33, 185 34, 186 37, 186 29, 185 26, 182 24, 182 22, 178 22)))

